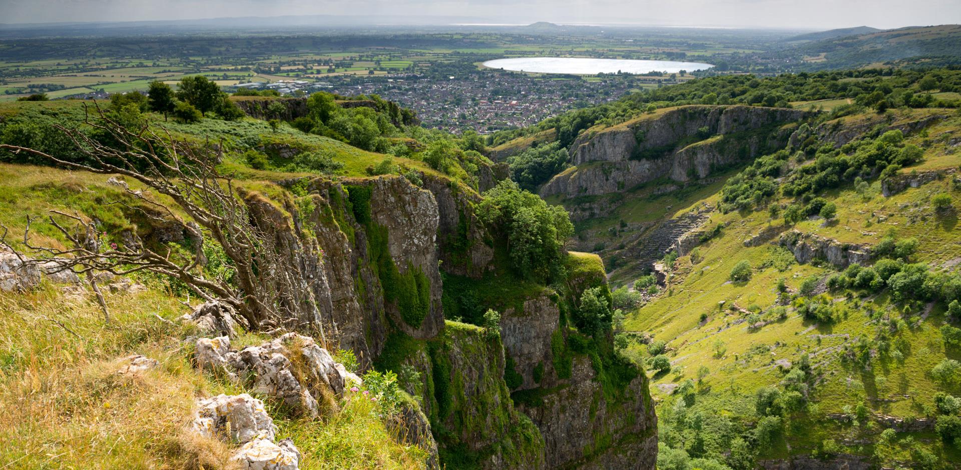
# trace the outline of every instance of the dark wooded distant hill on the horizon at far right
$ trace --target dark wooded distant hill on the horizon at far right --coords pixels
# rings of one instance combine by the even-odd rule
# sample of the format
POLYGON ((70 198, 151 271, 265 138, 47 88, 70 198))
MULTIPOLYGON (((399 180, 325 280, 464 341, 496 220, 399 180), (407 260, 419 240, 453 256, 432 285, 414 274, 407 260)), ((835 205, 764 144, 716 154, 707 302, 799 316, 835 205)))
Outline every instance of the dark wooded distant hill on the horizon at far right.
POLYGON ((807 60, 801 68, 808 70, 881 66, 888 62, 905 66, 932 57, 961 63, 961 25, 832 37, 801 44, 798 52, 807 60))

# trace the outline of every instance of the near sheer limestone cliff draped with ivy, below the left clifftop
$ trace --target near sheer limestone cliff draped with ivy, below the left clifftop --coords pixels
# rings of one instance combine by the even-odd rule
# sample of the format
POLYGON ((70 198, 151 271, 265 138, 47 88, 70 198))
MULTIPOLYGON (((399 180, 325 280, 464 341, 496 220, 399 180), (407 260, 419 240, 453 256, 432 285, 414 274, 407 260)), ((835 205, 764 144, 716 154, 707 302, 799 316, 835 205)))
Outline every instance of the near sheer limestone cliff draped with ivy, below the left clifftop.
POLYGON ((539 288, 507 308, 485 305, 504 312, 499 336, 445 325, 438 267, 486 279, 495 263, 476 192, 439 176, 425 176, 423 189, 399 176, 288 184, 306 194, 260 200, 255 216, 298 267, 327 341, 402 375, 408 432, 441 464, 653 468, 647 377, 563 314, 587 287, 605 287, 600 259, 572 254, 563 294, 539 288))

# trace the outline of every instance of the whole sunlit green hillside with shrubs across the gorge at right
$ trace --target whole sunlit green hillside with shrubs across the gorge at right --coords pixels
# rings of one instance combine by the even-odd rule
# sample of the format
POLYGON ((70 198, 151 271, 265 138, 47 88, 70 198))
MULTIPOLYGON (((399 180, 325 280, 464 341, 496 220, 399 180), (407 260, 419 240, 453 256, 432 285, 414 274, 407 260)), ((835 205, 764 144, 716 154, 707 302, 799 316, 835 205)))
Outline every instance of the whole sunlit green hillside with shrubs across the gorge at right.
POLYGON ((660 468, 954 468, 959 141, 956 110, 872 111, 795 126, 747 169, 564 200, 625 286, 660 468))

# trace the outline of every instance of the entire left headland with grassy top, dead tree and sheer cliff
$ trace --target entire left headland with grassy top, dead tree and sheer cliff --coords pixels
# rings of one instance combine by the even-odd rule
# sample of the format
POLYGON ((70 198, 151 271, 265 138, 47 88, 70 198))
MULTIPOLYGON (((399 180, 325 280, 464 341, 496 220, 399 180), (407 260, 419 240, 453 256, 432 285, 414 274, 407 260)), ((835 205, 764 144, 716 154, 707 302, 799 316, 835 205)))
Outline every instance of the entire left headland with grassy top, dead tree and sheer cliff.
POLYGON ((287 119, 267 122, 2 108, 2 403, 36 402, 0 462, 235 468, 256 444, 305 469, 653 468, 648 378, 567 212, 477 135, 329 98, 251 108, 287 119), (222 399, 262 403, 205 424, 222 399))

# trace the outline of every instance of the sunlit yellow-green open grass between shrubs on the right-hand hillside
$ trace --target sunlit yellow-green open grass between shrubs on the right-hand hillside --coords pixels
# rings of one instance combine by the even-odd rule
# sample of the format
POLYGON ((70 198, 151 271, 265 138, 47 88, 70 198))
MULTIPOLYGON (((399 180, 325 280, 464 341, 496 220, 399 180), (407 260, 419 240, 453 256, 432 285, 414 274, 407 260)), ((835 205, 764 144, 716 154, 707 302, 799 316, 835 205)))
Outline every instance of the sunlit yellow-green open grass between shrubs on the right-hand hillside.
MULTIPOLYGON (((928 129, 928 135, 934 137, 942 132, 953 133, 959 128, 961 118, 952 118, 928 129)), ((926 161, 918 165, 919 168, 931 170, 957 166, 959 160, 956 155, 946 153, 947 146, 924 142, 927 138, 914 136, 909 139, 919 145, 927 144, 926 161)), ((902 172, 911 170, 907 168, 902 172)), ((838 223, 823 226, 823 220, 805 221, 796 228, 841 241, 868 244, 876 243, 893 229, 899 237, 917 237, 921 242, 918 261, 938 267, 958 255, 956 247, 961 242, 961 230, 955 226, 956 216, 937 217, 934 213, 929 200, 938 193, 949 193, 955 207, 961 204, 961 194, 952 191, 949 178, 908 189, 892 198, 880 195, 880 183, 877 181, 866 198, 850 190, 834 191, 825 197, 836 202, 838 223), (882 217, 879 219, 878 216, 882 217)), ((717 195, 703 201, 715 203, 717 195)), ((783 376, 775 362, 782 359, 795 362, 802 353, 807 352, 811 354, 812 364, 820 366, 823 373, 822 383, 814 394, 819 410, 796 419, 797 429, 790 431, 768 456, 777 457, 789 452, 788 445, 792 454, 809 453, 826 437, 850 443, 861 437, 876 441, 876 434, 882 431, 879 428, 842 426, 825 419, 825 413, 844 411, 846 407, 852 408, 863 400, 876 413, 900 417, 922 416, 925 409, 930 409, 936 391, 954 394, 961 391, 945 389, 927 375, 933 365, 946 358, 938 332, 945 322, 944 309, 940 305, 930 305, 924 312, 912 312, 905 317, 923 318, 903 334, 911 344, 911 353, 903 364, 883 362, 875 366, 874 371, 843 364, 839 359, 839 350, 858 335, 874 338, 876 326, 868 315, 869 310, 887 311, 891 317, 900 317, 899 307, 890 302, 886 294, 866 298, 860 307, 846 300, 845 294, 836 295, 835 302, 845 304, 848 315, 831 325, 805 321, 789 310, 786 319, 749 330, 746 322, 738 321, 743 320, 745 314, 727 309, 731 303, 742 309, 759 307, 762 312, 768 312, 776 300, 775 286, 779 278, 785 278, 792 291, 796 291, 804 277, 817 275, 824 278, 833 270, 796 263, 783 272, 775 268, 758 269, 767 258, 775 256, 773 248, 769 245, 744 247, 743 242, 766 226, 783 223, 779 219, 771 221, 766 211, 727 215, 715 213, 705 226, 714 226, 716 223, 728 225, 722 236, 700 247, 702 260, 692 264, 690 256, 681 257, 670 289, 628 315, 629 330, 651 333, 656 340, 668 341, 673 349, 669 355, 679 372, 655 376, 652 382, 652 394, 662 403, 658 414, 673 403, 670 388, 665 386, 693 378, 699 367, 706 366, 711 373, 701 387, 698 407, 750 421, 754 419, 754 391, 776 385, 783 376), (752 279, 747 283, 728 282, 728 273, 741 260, 748 260, 754 267, 752 279), (673 294, 668 294, 668 291, 673 291, 673 294), (726 301, 725 308, 721 308, 720 301, 726 301), (924 315, 919 315, 922 313, 924 315), (703 321, 702 315, 706 315, 703 321), (715 355, 714 345, 719 341, 727 349, 723 357, 715 355), (752 346, 756 345, 768 346, 770 350, 750 353, 752 346), (879 380, 881 377, 884 379, 879 380)), ((924 445, 929 446, 942 461, 958 461, 961 458, 956 449, 944 448, 940 439, 924 434, 916 437, 925 442, 924 445)), ((873 449, 871 445, 852 444, 847 451, 870 455, 873 449)))

